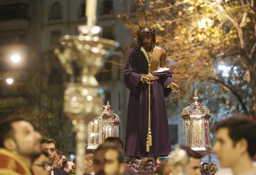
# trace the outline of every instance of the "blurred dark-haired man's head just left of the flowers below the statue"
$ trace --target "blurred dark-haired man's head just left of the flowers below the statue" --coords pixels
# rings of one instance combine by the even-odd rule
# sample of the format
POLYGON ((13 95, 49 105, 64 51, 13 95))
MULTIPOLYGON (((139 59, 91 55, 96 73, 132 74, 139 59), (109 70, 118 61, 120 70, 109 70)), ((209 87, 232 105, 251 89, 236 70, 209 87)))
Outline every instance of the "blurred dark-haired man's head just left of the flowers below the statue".
POLYGON ((113 143, 103 143, 95 150, 93 164, 95 175, 123 174, 123 151, 113 143))

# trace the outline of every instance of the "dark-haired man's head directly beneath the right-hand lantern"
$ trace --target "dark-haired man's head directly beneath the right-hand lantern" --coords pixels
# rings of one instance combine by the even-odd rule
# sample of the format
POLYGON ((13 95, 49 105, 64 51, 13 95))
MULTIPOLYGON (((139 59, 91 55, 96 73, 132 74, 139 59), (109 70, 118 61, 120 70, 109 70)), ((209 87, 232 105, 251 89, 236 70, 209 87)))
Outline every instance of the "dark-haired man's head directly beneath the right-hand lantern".
POLYGON ((188 164, 185 167, 186 174, 201 175, 200 168, 202 155, 189 147, 184 147, 183 150, 187 152, 189 157, 188 164))

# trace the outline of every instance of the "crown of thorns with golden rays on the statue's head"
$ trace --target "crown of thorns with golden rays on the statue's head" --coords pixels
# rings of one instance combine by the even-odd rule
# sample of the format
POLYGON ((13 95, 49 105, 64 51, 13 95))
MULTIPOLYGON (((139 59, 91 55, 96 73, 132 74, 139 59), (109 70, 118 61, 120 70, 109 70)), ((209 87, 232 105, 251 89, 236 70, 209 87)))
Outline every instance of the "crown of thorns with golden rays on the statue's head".
POLYGON ((156 14, 151 14, 148 22, 145 22, 143 13, 137 13, 136 16, 139 21, 138 25, 135 25, 132 22, 124 22, 126 28, 133 30, 134 36, 152 35, 156 32, 154 24, 154 21, 157 18, 156 14))

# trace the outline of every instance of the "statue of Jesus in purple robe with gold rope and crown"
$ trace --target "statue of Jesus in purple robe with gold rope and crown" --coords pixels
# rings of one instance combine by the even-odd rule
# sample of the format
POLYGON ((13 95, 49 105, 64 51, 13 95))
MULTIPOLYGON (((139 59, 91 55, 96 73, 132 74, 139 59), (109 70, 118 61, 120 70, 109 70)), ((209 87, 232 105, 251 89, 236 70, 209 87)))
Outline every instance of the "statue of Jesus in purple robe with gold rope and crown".
POLYGON ((133 30, 138 47, 129 51, 123 70, 129 97, 125 156, 159 156, 171 151, 165 97, 179 92, 172 74, 166 68, 166 51, 156 46, 155 15, 146 23, 141 13, 139 24, 124 23, 133 30))

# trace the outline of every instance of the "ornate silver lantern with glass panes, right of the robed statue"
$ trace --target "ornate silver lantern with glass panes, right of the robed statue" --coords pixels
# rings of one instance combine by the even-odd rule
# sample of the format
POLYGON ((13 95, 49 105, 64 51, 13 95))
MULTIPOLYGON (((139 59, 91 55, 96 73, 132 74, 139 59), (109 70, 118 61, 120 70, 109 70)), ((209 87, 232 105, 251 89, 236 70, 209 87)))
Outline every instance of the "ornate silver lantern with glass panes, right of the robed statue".
POLYGON ((211 153, 210 145, 210 110, 199 103, 194 93, 194 102, 182 111, 184 146, 202 154, 211 153))

